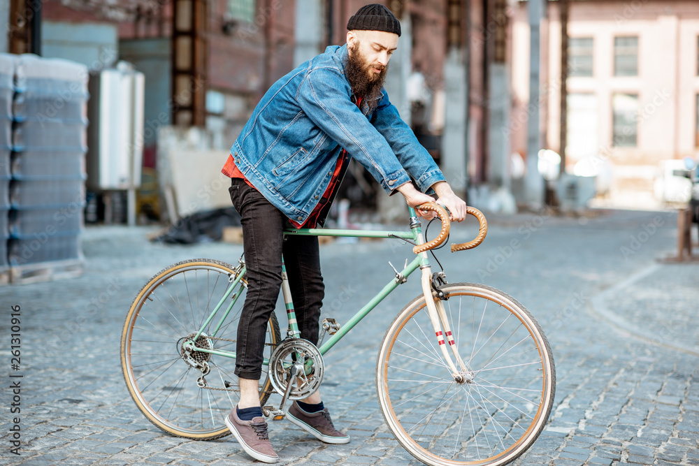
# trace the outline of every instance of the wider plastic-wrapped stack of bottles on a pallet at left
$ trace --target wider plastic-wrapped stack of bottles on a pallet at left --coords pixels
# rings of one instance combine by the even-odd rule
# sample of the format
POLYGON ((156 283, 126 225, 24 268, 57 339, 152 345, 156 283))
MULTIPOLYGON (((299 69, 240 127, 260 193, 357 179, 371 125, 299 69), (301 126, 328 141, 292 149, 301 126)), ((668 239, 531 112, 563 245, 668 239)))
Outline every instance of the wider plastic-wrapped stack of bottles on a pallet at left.
POLYGON ((82 261, 87 78, 87 67, 73 61, 32 54, 17 60, 10 267, 82 261))

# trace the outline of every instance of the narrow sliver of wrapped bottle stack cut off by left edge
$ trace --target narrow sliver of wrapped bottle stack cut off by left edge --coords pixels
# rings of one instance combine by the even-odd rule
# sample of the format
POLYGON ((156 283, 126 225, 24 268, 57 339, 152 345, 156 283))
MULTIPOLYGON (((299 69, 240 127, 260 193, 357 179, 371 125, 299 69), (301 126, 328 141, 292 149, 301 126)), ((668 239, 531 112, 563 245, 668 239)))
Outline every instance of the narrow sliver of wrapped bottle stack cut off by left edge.
POLYGON ((10 151, 12 101, 17 55, 0 54, 0 283, 8 277, 8 210, 10 209, 10 151))

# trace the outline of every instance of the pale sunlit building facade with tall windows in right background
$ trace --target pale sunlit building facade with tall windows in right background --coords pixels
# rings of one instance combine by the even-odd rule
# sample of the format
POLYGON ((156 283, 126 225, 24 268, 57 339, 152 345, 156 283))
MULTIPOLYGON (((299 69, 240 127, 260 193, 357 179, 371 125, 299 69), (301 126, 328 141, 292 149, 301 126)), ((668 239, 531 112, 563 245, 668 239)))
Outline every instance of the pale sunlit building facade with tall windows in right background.
POLYGON ((527 3, 513 10, 512 152, 526 152, 529 109, 539 105, 545 148, 565 153, 568 173, 597 174, 603 205, 681 200, 668 194, 677 182, 668 168, 699 151, 699 3, 571 0, 564 77, 560 3, 548 3, 542 23, 538 103, 528 99, 527 3))

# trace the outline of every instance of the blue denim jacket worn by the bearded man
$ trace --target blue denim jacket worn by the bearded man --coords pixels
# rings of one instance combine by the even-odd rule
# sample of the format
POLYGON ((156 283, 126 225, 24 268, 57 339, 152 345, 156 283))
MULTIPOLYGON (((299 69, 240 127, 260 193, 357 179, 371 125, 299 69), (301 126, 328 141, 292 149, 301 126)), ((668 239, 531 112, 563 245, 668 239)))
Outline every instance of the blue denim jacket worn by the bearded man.
POLYGON ((266 92, 231 147, 245 178, 289 219, 303 223, 329 185, 343 148, 389 194, 412 177, 418 189, 444 180, 384 90, 358 108, 345 78, 347 45, 333 45, 266 92))

